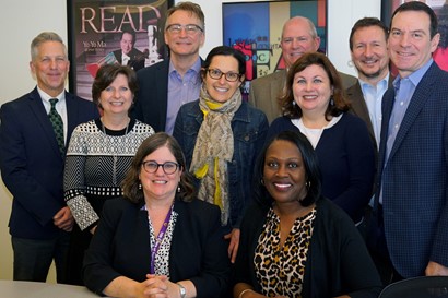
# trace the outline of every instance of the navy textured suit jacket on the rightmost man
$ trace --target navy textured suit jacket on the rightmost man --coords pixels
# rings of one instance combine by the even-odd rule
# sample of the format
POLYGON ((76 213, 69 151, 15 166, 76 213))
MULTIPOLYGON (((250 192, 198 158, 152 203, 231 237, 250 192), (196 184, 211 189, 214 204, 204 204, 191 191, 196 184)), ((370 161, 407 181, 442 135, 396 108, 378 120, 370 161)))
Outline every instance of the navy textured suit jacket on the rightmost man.
POLYGON ((390 87, 382 99, 377 189, 391 261, 412 277, 429 261, 448 266, 448 72, 433 62, 424 74, 385 163, 394 96, 390 87))

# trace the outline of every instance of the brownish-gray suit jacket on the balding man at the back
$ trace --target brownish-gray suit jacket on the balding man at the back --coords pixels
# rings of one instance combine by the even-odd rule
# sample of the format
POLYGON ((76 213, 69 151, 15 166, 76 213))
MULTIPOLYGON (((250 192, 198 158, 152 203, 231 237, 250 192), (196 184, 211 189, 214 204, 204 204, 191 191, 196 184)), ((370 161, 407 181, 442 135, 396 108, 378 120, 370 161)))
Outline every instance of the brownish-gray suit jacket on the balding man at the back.
MULTIPOLYGON (((340 72, 344 90, 356 83, 357 79, 340 72)), ((268 117, 271 123, 275 118, 282 116, 278 98, 282 96, 286 81, 286 70, 276 71, 274 73, 257 78, 250 82, 249 103, 261 109, 268 117)))

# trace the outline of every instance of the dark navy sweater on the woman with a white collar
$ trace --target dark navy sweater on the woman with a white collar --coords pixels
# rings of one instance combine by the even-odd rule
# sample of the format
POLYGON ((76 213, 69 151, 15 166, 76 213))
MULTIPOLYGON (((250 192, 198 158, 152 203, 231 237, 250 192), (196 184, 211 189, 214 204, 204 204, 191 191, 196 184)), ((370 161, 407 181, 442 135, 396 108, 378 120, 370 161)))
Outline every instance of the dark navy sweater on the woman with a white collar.
MULTIPOLYGON (((269 128, 267 140, 285 130, 299 131, 290 118, 276 118, 269 128)), ((323 130, 316 153, 322 174, 323 196, 358 223, 372 198, 375 178, 375 150, 366 124, 361 118, 344 114, 338 123, 323 130)))

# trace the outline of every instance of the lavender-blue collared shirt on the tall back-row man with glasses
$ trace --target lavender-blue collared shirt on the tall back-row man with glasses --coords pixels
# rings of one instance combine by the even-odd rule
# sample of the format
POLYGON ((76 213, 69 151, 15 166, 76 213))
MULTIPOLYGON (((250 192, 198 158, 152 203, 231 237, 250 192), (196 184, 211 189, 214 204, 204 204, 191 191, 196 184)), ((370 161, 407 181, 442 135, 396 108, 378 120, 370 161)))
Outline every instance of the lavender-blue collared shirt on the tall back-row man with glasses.
POLYGON ((174 68, 169 61, 168 72, 168 103, 166 110, 165 132, 173 134, 176 116, 181 105, 193 102, 199 98, 201 88, 201 58, 185 73, 184 78, 174 68))

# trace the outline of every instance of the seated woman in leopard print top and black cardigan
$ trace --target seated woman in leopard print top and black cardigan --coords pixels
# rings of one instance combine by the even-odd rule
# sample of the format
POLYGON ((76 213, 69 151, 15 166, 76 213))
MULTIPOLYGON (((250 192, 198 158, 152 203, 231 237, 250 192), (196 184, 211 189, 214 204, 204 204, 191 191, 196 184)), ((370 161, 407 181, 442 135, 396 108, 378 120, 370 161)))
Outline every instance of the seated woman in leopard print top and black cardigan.
POLYGON ((235 298, 378 297, 381 282, 361 235, 321 196, 317 156, 306 136, 274 136, 256 177, 256 203, 241 223, 235 298))

